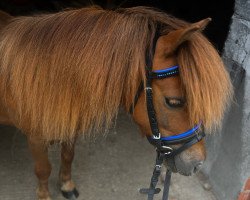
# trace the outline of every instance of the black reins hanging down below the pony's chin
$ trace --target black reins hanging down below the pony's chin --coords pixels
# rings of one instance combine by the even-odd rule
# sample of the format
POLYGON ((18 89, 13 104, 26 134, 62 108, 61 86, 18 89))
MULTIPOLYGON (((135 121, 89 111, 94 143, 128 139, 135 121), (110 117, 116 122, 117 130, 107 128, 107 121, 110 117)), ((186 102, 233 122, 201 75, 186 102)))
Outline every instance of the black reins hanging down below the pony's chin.
MULTIPOLYGON (((151 177, 151 182, 149 188, 142 188, 140 189, 141 194, 147 194, 148 200, 153 200, 155 194, 159 194, 161 189, 156 188, 156 185, 159 180, 159 176, 161 175, 161 168, 164 160, 164 154, 157 151, 157 157, 155 161, 155 168, 153 171, 153 175, 151 177)), ((168 193, 170 187, 170 180, 171 180, 171 171, 167 169, 166 177, 164 181, 164 189, 163 189, 163 197, 162 200, 168 200, 168 193)))

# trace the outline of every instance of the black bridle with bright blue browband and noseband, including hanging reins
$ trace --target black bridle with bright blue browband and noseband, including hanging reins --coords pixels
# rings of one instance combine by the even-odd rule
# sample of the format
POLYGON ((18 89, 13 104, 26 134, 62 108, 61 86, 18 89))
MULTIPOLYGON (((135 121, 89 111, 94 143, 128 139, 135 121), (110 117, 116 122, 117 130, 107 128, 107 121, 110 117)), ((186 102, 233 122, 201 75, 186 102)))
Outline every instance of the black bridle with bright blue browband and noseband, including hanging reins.
MULTIPOLYGON (((153 44, 153 53, 156 46, 157 37, 155 38, 153 44)), ((148 59, 149 57, 147 57, 148 59)), ((162 137, 158 128, 158 122, 156 118, 156 112, 153 104, 153 90, 152 90, 152 79, 163 79, 172 76, 177 76, 179 74, 179 66, 172 66, 163 70, 152 71, 152 60, 147 60, 147 76, 146 76, 146 103, 147 103, 147 113, 148 119, 151 127, 152 136, 148 137, 150 144, 156 147, 156 163, 154 172, 151 178, 150 186, 147 189, 141 189, 140 193, 147 194, 148 200, 153 200, 154 194, 158 194, 161 190, 156 188, 158 178, 161 173, 161 166, 164 160, 167 162, 174 163, 174 158, 177 154, 191 147, 193 144, 202 140, 205 137, 203 132, 199 131, 201 124, 196 125, 192 129, 174 136, 162 137), (178 148, 173 148, 172 145, 178 145, 178 148)), ((138 97, 143 89, 143 83, 141 83, 138 92, 135 97, 136 104, 138 97)), ((171 171, 167 169, 164 191, 162 200, 168 199, 169 186, 171 179, 171 171)))

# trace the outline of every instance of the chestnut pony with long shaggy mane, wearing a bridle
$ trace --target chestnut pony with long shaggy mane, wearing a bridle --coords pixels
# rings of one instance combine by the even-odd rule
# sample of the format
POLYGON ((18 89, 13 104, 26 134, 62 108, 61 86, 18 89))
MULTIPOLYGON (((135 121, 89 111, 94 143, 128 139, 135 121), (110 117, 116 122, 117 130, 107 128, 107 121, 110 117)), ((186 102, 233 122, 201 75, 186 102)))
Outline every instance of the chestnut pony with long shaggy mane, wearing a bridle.
MULTIPOLYGON (((145 91, 135 103, 146 80, 146 59, 153 70, 179 66, 179 75, 152 80, 162 136, 200 121, 207 132, 220 126, 232 86, 220 56, 201 33, 209 19, 190 24, 147 7, 0 14, 0 123, 27 135, 39 200, 50 199, 51 141, 62 145, 60 181, 67 196, 77 193, 71 180, 76 136, 108 130, 119 108, 129 112, 131 106, 142 133, 152 134, 145 91)), ((202 140, 176 156, 175 171, 190 175, 204 159, 202 140)))

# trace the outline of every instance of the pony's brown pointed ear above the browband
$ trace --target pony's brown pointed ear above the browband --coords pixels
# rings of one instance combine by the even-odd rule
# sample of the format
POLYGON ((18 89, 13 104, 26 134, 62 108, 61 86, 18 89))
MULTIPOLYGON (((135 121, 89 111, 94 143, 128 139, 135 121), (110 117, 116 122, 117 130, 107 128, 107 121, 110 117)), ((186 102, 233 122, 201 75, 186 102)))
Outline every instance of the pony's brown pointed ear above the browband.
POLYGON ((211 18, 206 18, 199 22, 190 24, 186 28, 171 31, 167 35, 161 36, 157 41, 155 53, 158 54, 158 56, 166 56, 173 53, 180 44, 189 40, 192 34, 205 29, 210 21, 211 18))

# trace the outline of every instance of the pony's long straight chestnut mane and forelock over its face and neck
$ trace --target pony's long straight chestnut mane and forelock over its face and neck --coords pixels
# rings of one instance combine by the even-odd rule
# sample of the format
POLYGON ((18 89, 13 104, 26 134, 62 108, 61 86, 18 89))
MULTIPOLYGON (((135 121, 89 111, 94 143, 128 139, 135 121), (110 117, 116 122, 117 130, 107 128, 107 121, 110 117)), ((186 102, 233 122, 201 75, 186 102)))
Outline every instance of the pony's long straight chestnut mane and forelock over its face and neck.
MULTIPOLYGON (((145 7, 13 19, 0 36, 1 101, 13 123, 47 140, 108 129, 145 79, 159 24, 162 34, 188 25, 145 7)), ((190 123, 218 125, 231 85, 217 52, 196 34, 179 48, 178 60, 190 123)))

